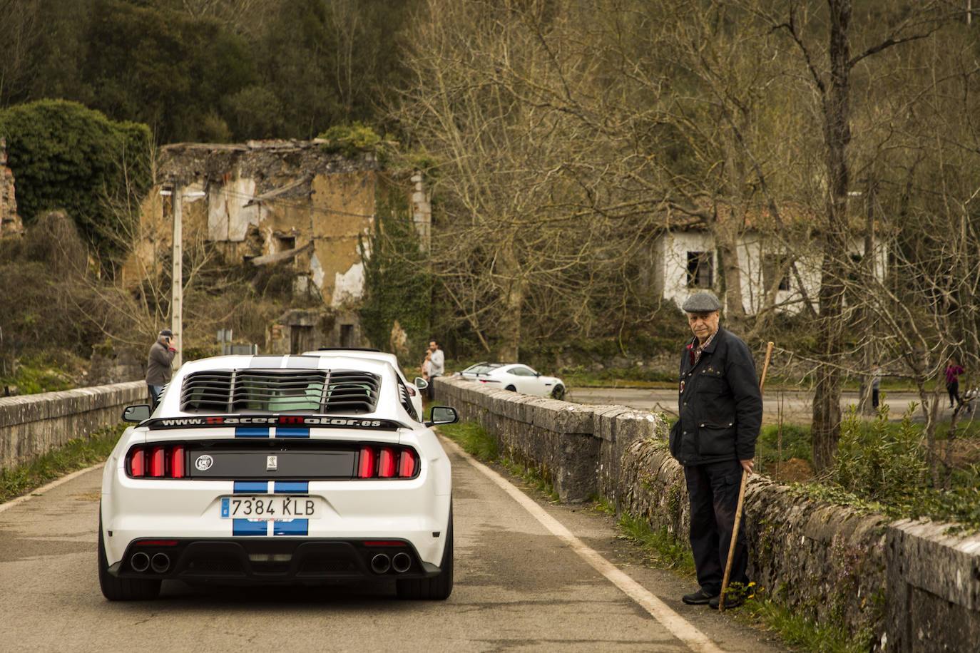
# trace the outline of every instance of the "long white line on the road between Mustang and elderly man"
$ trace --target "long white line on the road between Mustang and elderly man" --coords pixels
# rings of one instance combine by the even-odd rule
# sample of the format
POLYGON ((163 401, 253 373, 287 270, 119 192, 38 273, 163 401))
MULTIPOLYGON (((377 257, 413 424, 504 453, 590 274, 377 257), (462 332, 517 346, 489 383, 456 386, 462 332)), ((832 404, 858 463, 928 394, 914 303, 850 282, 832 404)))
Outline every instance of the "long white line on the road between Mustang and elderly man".
POLYGON ((501 490, 510 494, 524 510, 531 513, 552 535, 568 544, 579 557, 589 563, 589 565, 605 576, 616 587, 621 589, 623 593, 633 599, 640 607, 649 612, 666 630, 669 630, 675 637, 687 644, 688 648, 692 651, 720 653, 721 649, 704 632, 696 629, 687 620, 667 607, 661 599, 654 596, 646 587, 617 569, 613 563, 600 555, 595 549, 586 546, 581 539, 573 536, 568 529, 564 528, 561 522, 549 515, 544 508, 531 500, 524 492, 517 490, 507 479, 466 453, 457 443, 446 440, 445 438, 442 440, 444 445, 449 445, 457 453, 466 458, 466 462, 479 470, 483 476, 493 481, 501 490))

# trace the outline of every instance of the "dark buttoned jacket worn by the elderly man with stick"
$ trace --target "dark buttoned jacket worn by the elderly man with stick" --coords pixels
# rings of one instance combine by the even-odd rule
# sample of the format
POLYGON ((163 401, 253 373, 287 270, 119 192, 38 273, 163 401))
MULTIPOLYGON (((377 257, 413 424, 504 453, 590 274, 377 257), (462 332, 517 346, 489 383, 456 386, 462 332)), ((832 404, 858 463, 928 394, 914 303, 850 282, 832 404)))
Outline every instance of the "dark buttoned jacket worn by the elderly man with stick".
POLYGON ((681 353, 680 419, 670 429, 670 453, 682 465, 756 457, 762 395, 752 352, 720 326, 693 364, 696 347, 694 338, 681 353))

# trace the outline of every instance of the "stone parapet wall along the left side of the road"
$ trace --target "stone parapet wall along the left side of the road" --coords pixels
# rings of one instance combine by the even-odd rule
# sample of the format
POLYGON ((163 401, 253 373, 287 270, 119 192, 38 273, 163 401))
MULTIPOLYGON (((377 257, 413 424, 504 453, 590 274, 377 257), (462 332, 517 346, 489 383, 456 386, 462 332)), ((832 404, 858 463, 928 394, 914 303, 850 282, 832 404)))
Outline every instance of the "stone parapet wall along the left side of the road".
POLYGON ((123 406, 146 399, 142 381, 0 398, 0 469, 119 424, 123 406))

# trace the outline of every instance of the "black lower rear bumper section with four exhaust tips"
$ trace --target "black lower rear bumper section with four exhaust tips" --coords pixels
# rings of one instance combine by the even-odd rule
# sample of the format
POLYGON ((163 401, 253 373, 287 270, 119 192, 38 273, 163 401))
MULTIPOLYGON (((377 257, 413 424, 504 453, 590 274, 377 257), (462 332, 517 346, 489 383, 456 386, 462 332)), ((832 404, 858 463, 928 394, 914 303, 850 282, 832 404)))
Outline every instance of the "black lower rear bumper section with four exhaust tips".
POLYGON ((119 578, 188 583, 384 582, 439 573, 408 541, 361 539, 137 539, 109 568, 119 578))

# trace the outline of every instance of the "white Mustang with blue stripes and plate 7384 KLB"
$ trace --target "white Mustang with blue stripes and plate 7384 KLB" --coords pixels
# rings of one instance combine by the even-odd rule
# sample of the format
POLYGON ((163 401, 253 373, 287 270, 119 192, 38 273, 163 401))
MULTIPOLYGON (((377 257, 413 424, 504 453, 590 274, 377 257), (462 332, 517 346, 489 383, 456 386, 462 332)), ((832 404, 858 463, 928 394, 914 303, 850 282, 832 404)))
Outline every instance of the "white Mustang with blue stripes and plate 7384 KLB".
POLYGON ((450 463, 435 406, 415 418, 386 360, 230 355, 185 363, 156 411, 127 406, 102 479, 99 583, 110 600, 190 584, 394 582, 453 589, 450 463))

